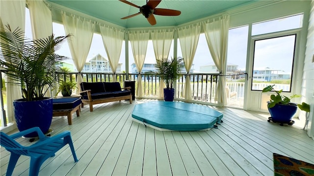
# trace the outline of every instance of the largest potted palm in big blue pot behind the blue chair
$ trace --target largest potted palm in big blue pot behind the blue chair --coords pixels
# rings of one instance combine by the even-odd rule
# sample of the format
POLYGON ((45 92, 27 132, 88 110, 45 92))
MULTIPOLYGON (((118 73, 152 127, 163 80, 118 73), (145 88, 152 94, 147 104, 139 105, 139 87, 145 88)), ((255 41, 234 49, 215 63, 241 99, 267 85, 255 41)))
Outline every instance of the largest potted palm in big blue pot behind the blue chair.
MULTIPOLYGON (((54 51, 70 35, 26 39, 21 28, 12 30, 10 25, 0 29, 0 64, 6 69, 8 84, 21 87, 22 98, 13 101, 15 120, 20 131, 39 127, 48 132, 52 122, 52 98, 45 93, 55 84, 56 62, 65 59, 54 51)), ((34 137, 30 133, 26 137, 34 137)))

